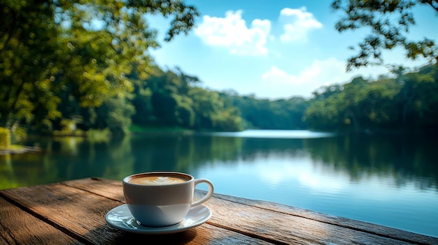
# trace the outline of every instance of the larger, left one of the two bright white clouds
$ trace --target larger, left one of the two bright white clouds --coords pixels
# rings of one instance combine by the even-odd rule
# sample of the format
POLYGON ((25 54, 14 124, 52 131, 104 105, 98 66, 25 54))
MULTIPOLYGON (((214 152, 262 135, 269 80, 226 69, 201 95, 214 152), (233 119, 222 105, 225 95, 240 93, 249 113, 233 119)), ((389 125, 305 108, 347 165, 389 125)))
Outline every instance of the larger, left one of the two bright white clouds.
POLYGON ((265 45, 271 31, 271 22, 255 19, 248 28, 241 13, 241 10, 227 11, 223 18, 204 15, 195 34, 208 45, 227 47, 232 54, 267 54, 265 45))

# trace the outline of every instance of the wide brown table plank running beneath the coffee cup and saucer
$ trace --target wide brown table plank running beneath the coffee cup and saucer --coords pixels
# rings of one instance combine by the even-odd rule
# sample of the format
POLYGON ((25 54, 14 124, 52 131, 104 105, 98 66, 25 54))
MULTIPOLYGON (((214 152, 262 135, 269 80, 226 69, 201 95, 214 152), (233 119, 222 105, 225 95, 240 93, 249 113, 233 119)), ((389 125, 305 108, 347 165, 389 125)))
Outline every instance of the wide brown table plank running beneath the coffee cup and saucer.
MULTIPOLYGON (((14 200, 22 209, 41 216, 46 222, 57 225, 59 230, 81 238, 87 244, 126 244, 140 238, 160 240, 164 244, 270 244, 209 224, 174 235, 138 235, 117 230, 106 224, 104 217, 109 210, 122 202, 104 195, 118 196, 119 191, 115 190, 119 188, 105 183, 97 185, 99 188, 93 188, 93 183, 99 181, 90 180, 92 182, 88 184, 88 188, 101 188, 103 195, 95 195, 66 184, 13 188, 0 191, 0 195, 14 200)), ((83 184, 83 181, 78 183, 83 184)))

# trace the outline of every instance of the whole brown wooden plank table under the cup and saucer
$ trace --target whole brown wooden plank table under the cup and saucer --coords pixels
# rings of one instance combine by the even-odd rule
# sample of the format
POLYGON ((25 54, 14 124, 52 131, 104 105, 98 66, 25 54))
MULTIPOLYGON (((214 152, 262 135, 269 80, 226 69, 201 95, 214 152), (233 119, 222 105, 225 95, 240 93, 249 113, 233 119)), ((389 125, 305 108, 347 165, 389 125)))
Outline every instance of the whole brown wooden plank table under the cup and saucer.
POLYGON ((124 202, 122 182, 100 178, 0 191, 0 244, 438 244, 436 237, 219 194, 205 203, 213 215, 197 228, 135 234, 105 221, 124 202))

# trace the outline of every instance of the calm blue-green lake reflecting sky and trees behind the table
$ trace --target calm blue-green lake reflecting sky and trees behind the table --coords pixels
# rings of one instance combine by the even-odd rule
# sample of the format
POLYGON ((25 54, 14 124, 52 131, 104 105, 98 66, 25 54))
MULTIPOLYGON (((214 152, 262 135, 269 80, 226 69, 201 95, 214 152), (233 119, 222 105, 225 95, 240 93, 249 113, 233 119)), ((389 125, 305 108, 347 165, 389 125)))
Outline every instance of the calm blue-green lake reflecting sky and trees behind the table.
POLYGON ((42 153, 0 156, 0 189, 173 170, 210 179, 216 193, 438 237, 437 138, 243 131, 35 143, 42 153))

